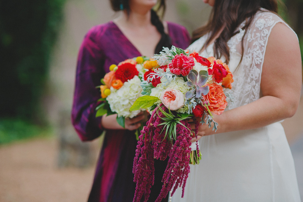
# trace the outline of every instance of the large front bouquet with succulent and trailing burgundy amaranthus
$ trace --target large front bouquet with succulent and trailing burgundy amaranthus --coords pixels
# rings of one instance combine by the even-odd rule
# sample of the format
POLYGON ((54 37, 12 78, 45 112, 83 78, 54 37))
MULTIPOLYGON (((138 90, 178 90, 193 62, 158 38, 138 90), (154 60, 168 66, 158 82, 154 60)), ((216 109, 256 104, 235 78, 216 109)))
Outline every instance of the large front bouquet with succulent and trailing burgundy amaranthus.
POLYGON ((156 201, 161 201, 170 190, 174 194, 178 186, 182 186, 184 196, 189 164, 201 160, 198 141, 191 146, 191 139, 197 137, 200 123, 209 127, 213 123, 213 130, 217 130, 218 124, 212 117, 225 110, 223 88, 231 88, 233 82, 228 66, 214 57, 203 58, 173 46, 153 58, 158 66, 145 72, 141 82, 144 96, 130 108, 147 108, 151 113, 139 136, 134 159, 135 202, 143 195, 144 201, 148 200, 154 183, 154 158, 165 160, 167 156, 164 184, 156 201), (193 132, 189 119, 195 123, 193 132))

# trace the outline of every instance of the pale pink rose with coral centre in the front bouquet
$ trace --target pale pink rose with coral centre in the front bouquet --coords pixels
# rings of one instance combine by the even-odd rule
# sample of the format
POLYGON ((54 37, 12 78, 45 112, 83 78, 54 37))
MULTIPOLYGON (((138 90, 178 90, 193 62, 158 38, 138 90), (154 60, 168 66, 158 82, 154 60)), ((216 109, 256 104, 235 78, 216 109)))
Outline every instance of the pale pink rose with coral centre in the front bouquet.
POLYGON ((178 110, 184 106, 184 95, 181 91, 167 88, 162 92, 160 99, 166 108, 170 110, 178 110))

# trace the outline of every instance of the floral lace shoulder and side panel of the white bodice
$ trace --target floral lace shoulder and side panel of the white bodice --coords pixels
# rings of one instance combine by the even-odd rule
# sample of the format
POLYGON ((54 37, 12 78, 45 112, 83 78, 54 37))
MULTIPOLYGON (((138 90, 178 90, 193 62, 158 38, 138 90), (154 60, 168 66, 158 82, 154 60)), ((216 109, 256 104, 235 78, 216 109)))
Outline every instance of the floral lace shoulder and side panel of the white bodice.
MULTIPOLYGON (((228 109, 249 104, 260 98, 260 83, 265 49, 272 27, 281 19, 271 12, 258 12, 244 36, 241 64, 234 72, 233 88, 227 90, 235 101, 228 109)), ((230 46, 230 45, 229 45, 230 46)), ((241 49, 237 48, 239 52, 241 49)))

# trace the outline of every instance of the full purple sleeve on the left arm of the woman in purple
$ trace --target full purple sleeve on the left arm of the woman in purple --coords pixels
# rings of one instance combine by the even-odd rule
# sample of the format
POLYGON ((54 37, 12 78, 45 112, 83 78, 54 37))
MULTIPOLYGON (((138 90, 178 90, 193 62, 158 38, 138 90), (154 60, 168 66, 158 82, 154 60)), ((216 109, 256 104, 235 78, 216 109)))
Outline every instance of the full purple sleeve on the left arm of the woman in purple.
POLYGON ((104 77, 104 53, 94 28, 88 31, 78 54, 72 124, 82 141, 95 139, 102 133, 101 118, 95 117, 100 98, 100 78, 104 77))

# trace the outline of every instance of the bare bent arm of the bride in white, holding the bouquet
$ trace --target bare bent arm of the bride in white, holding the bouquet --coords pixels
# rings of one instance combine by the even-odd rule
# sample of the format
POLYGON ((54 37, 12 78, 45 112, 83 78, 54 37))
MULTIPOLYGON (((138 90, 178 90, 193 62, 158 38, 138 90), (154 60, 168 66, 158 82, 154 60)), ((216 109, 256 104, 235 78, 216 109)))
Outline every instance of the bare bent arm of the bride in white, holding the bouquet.
MULTIPOLYGON (((293 116, 300 99, 301 71, 298 39, 286 25, 278 23, 266 47, 261 75, 263 97, 214 116, 219 124, 217 133, 264 127, 293 116)), ((215 132, 206 124, 199 126, 199 136, 211 134, 215 132)))

